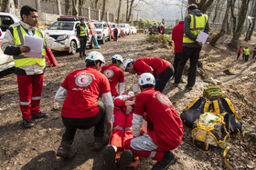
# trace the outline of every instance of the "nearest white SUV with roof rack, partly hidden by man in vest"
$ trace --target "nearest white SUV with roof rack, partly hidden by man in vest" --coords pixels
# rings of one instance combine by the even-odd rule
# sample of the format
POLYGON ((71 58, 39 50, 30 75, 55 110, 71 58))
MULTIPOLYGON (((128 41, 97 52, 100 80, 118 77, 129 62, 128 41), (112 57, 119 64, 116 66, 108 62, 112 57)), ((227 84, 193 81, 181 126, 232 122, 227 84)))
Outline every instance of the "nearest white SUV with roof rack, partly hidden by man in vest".
MULTIPOLYGON (((62 18, 61 21, 56 21, 52 25, 49 25, 46 33, 56 39, 57 42, 70 45, 71 54, 76 54, 78 48, 80 48, 80 41, 77 37, 77 25, 80 24, 79 21, 70 21, 69 18, 62 18), (66 21, 65 21, 66 20, 66 21)), ((88 23, 86 23, 88 30, 87 46, 90 48, 94 47, 94 40, 91 35, 91 29, 88 23)), ((92 25, 93 26, 93 25, 92 25)), ((94 28, 93 28, 94 29, 94 28)), ((94 30, 95 32, 95 30, 94 30)), ((95 32, 96 33, 96 32, 95 32)))

